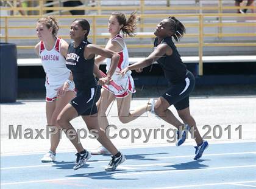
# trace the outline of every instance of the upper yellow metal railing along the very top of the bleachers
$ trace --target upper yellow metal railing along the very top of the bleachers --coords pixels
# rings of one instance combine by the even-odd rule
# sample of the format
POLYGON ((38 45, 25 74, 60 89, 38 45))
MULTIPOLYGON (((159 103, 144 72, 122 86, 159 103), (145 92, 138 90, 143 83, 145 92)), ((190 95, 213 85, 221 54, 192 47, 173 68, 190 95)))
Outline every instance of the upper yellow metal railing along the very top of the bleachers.
MULTIPOLYGON (((192 2, 193 0, 191 0, 192 2)), ((91 6, 90 4, 88 5, 88 2, 90 1, 82 1, 84 2, 84 5, 80 5, 77 7, 62 7, 59 6, 62 2, 65 2, 63 0, 59 0, 59 1, 54 1, 52 2, 52 4, 57 4, 58 6, 54 6, 54 7, 48 7, 49 3, 46 3, 46 1, 43 0, 28 0, 26 1, 28 4, 30 4, 30 6, 26 6, 26 7, 18 7, 18 3, 17 1, 5 1, 5 2, 9 2, 8 4, 12 4, 12 6, 10 7, 1 7, 2 10, 11 10, 15 13, 17 13, 19 10, 24 10, 24 11, 34 11, 37 12, 34 15, 44 15, 47 11, 57 11, 57 15, 60 15, 60 13, 62 13, 63 11, 68 12, 70 10, 94 10, 98 13, 98 15, 102 14, 103 10, 137 10, 141 15, 144 14, 145 11, 147 10, 196 10, 199 11, 199 13, 202 13, 203 10, 216 10, 217 13, 223 13, 224 10, 236 10, 236 9, 255 9, 255 3, 250 6, 250 7, 246 7, 246 6, 241 6, 241 7, 236 7, 234 4, 234 1, 230 1, 232 2, 232 6, 228 5, 224 5, 223 2, 225 2, 224 0, 216 0, 216 2, 213 5, 210 5, 210 3, 208 3, 207 5, 202 5, 202 1, 198 1, 198 3, 195 3, 196 1, 193 1, 193 5, 176 5, 172 2, 174 2, 174 0, 166 0, 166 4, 162 5, 162 6, 154 6, 154 5, 146 5, 146 1, 145 0, 140 0, 140 4, 138 5, 121 5, 121 6, 116 6, 116 5, 111 5, 111 6, 107 6, 107 5, 101 5, 101 1, 96 0, 95 3, 93 4, 93 6, 91 6), (85 3, 86 2, 86 3, 85 3)), ((210 2, 210 1, 209 1, 210 2)), ((56 13, 56 12, 54 12, 56 13)))

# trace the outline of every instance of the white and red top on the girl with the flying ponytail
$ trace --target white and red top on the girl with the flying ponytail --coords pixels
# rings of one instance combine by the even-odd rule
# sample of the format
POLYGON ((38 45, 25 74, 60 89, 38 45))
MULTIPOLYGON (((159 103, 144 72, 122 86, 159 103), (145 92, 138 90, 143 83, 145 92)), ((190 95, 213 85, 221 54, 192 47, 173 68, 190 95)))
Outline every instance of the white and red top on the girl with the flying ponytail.
MULTIPOLYGON (((129 54, 128 54, 128 50, 127 50, 127 47, 126 47, 126 43, 124 43, 124 38, 120 34, 114 36, 111 40, 108 41, 108 43, 110 43, 111 41, 116 41, 121 47, 123 47, 123 50, 121 50, 120 52, 117 52, 120 55, 120 59, 119 59, 119 62, 118 62, 118 66, 116 67, 116 71, 121 71, 124 68, 126 68, 127 66, 129 66, 129 54), (118 39, 123 40, 123 44, 121 44, 118 41, 118 39)), ((110 64, 111 64, 111 59, 110 58, 107 58, 106 64, 107 64, 106 69, 107 69, 107 72, 108 72, 108 70, 110 69, 110 64)), ((113 79, 121 78, 122 76, 118 75, 118 72, 116 72, 116 71, 113 74, 112 78, 113 79)), ((129 70, 126 73, 126 77, 129 77, 130 74, 132 74, 132 71, 129 70)))

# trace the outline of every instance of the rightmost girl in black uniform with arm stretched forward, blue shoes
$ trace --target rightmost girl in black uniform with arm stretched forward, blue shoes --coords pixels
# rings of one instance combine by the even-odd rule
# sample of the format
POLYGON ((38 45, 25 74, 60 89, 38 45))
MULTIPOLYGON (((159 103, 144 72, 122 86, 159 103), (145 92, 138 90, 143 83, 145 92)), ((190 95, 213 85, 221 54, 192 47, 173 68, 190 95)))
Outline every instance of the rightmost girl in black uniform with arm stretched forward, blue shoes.
POLYGON ((162 67, 165 78, 168 80, 169 89, 156 101, 154 105, 155 114, 161 117, 166 122, 171 125, 179 126, 182 125, 183 129, 180 133, 180 137, 176 142, 177 146, 182 145, 185 142, 187 130, 190 128, 194 129, 194 137, 197 143, 196 156, 194 159, 199 159, 204 152, 204 149, 208 147, 208 142, 202 140, 199 131, 196 128, 196 122, 190 115, 189 108, 189 96, 194 89, 194 75, 187 70, 185 64, 182 63, 180 59, 179 52, 176 46, 172 42, 174 40, 179 41, 182 38, 183 33, 185 33, 185 27, 178 21, 175 17, 169 17, 168 19, 163 19, 154 32, 154 52, 149 55, 143 61, 132 64, 121 71, 121 74, 126 74, 129 70, 140 69, 151 65, 154 61, 162 67), (180 119, 183 120, 181 123, 168 109, 169 106, 174 105, 177 109, 180 119))

